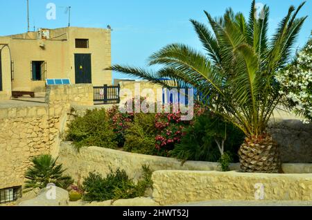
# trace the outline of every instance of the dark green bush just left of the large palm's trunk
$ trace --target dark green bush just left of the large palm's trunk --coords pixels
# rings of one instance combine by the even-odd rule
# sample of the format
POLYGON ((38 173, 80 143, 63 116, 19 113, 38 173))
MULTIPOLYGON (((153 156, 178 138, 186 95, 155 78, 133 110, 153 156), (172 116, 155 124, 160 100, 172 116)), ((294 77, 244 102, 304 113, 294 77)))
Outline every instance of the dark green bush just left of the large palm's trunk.
POLYGON ((225 138, 225 150, 230 152, 234 161, 239 161, 237 152, 243 143, 243 133, 212 113, 198 116, 193 126, 184 129, 184 134, 171 156, 182 161, 218 162, 221 154, 216 139, 225 138))

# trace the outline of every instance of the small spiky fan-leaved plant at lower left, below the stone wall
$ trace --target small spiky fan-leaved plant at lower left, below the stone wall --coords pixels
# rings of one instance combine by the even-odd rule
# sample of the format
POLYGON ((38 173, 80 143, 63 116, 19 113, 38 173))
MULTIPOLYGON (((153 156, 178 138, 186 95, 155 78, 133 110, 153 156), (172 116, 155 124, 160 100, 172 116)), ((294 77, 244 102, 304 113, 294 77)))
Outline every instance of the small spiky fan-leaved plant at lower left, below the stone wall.
POLYGON ((24 189, 26 191, 35 188, 43 189, 48 183, 54 183, 58 187, 67 189, 73 183, 70 176, 63 176, 62 164, 57 165, 58 158, 51 155, 40 155, 32 159, 33 166, 29 167, 25 173, 24 189))

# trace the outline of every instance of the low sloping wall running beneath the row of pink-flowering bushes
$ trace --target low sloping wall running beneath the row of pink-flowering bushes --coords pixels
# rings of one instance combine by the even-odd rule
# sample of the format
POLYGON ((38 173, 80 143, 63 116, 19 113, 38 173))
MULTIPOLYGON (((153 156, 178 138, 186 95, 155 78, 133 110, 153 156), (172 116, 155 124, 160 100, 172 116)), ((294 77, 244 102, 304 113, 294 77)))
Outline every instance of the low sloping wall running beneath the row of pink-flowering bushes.
MULTIPOLYGON (((60 145, 59 163, 67 168, 67 174, 76 181, 82 181, 89 172, 98 172, 106 176, 112 169, 125 169, 131 178, 137 179, 141 175, 141 166, 149 165, 156 170, 220 170, 218 163, 187 161, 181 165, 175 158, 132 154, 103 147, 83 147, 80 152, 70 142, 60 145)), ((239 170, 239 163, 230 165, 232 170, 239 170)), ((312 164, 284 164, 285 173, 312 173, 312 164)))

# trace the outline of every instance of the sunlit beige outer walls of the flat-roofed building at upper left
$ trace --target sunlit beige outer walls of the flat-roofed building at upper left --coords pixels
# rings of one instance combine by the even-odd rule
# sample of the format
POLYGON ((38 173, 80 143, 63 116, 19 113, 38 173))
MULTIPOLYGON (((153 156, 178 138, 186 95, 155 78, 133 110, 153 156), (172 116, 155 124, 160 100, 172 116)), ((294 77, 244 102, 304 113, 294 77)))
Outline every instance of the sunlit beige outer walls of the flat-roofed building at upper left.
MULTIPOLYGON (((14 91, 45 91, 44 81, 31 80, 31 62, 46 62, 46 78, 69 78, 75 83, 75 53, 92 56, 92 84, 112 84, 110 30, 101 28, 58 28, 50 30, 50 39, 37 39, 37 33, 0 37, 9 42, 14 62, 14 91), (89 39, 89 48, 76 48, 75 39, 89 39), (45 47, 40 47, 44 43, 45 47)), ((10 77, 10 71, 3 72, 10 77)))

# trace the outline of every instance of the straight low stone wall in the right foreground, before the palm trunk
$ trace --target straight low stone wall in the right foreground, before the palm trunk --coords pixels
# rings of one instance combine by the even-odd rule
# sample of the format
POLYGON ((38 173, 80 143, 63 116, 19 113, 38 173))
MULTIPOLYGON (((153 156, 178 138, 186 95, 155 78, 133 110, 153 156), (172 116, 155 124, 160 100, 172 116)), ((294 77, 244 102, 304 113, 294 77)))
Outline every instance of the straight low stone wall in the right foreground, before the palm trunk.
POLYGON ((221 199, 255 200, 257 183, 264 186, 265 200, 312 201, 312 174, 162 170, 154 172, 152 179, 153 198, 160 205, 221 199))

